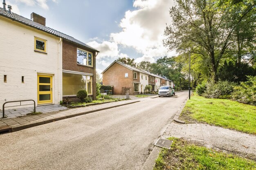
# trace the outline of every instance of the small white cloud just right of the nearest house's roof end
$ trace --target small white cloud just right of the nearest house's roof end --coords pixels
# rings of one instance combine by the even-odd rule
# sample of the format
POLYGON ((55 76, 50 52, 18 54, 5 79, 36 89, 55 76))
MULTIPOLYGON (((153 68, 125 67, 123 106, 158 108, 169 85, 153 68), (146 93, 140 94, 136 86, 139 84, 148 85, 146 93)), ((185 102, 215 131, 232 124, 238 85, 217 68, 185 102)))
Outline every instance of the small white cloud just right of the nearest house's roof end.
POLYGON ((119 55, 118 46, 115 42, 103 41, 102 43, 98 43, 96 41, 92 41, 86 44, 100 51, 100 53, 97 55, 98 59, 104 57, 114 58, 119 55))

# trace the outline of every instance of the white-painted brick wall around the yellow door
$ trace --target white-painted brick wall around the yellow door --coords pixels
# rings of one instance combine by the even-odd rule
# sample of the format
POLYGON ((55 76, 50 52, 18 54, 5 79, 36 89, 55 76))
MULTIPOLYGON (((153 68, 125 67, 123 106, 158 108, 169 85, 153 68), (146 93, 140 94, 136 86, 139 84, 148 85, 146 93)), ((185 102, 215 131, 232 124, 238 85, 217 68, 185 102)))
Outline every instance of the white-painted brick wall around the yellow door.
POLYGON ((58 104, 58 42, 59 38, 53 35, 0 16, 0 109, 5 99, 7 102, 34 99, 37 104, 38 74, 53 76, 53 104, 58 104), (47 54, 34 51, 34 36, 47 40, 47 54), (7 75, 7 82, 4 82, 4 75, 7 75), (21 82, 22 76, 25 83, 21 82))

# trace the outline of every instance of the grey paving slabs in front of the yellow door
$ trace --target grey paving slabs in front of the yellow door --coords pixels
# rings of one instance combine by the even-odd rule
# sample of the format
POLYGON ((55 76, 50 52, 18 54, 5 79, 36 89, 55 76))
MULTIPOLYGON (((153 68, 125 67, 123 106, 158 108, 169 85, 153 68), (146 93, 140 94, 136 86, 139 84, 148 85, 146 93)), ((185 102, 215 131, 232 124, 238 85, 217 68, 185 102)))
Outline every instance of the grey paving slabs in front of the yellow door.
MULTIPOLYGON (((51 104, 51 105, 44 105, 44 106, 36 106, 36 112, 42 112, 42 113, 49 113, 53 111, 58 110, 66 110, 67 107, 61 106, 59 104, 51 104)), ((33 107, 25 107, 25 108, 13 108, 13 109, 4 109, 4 115, 7 116, 7 118, 13 118, 13 117, 20 117, 27 115, 28 113, 31 113, 34 111, 33 107)), ((2 117, 2 110, 0 110, 0 117, 2 117)))

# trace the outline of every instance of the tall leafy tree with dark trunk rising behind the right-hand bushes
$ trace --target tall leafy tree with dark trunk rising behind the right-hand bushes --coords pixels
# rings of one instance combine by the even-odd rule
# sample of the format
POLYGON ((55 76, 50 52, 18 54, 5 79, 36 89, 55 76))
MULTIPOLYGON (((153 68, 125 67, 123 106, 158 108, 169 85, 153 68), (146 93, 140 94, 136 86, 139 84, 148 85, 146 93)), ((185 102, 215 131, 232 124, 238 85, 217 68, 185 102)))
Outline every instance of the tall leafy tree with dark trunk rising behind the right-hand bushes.
POLYGON ((169 50, 190 49, 192 53, 200 54, 204 62, 208 62, 209 72, 215 81, 218 81, 218 66, 227 48, 242 39, 234 39, 237 25, 255 23, 251 20, 255 15, 254 0, 228 1, 239 1, 243 8, 238 11, 232 6, 234 3, 228 4, 223 0, 176 0, 170 9, 172 24, 164 31, 168 36, 164 45, 169 50))

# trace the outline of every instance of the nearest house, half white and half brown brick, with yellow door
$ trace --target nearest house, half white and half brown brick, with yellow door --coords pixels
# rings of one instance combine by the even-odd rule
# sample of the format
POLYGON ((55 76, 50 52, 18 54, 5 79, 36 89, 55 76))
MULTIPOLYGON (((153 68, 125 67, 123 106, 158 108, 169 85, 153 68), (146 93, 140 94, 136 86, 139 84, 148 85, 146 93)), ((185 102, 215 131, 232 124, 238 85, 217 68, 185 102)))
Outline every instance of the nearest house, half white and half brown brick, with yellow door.
POLYGON ((31 19, 0 7, 0 106, 33 99, 36 105, 58 104, 81 89, 96 98, 97 49, 31 19))

